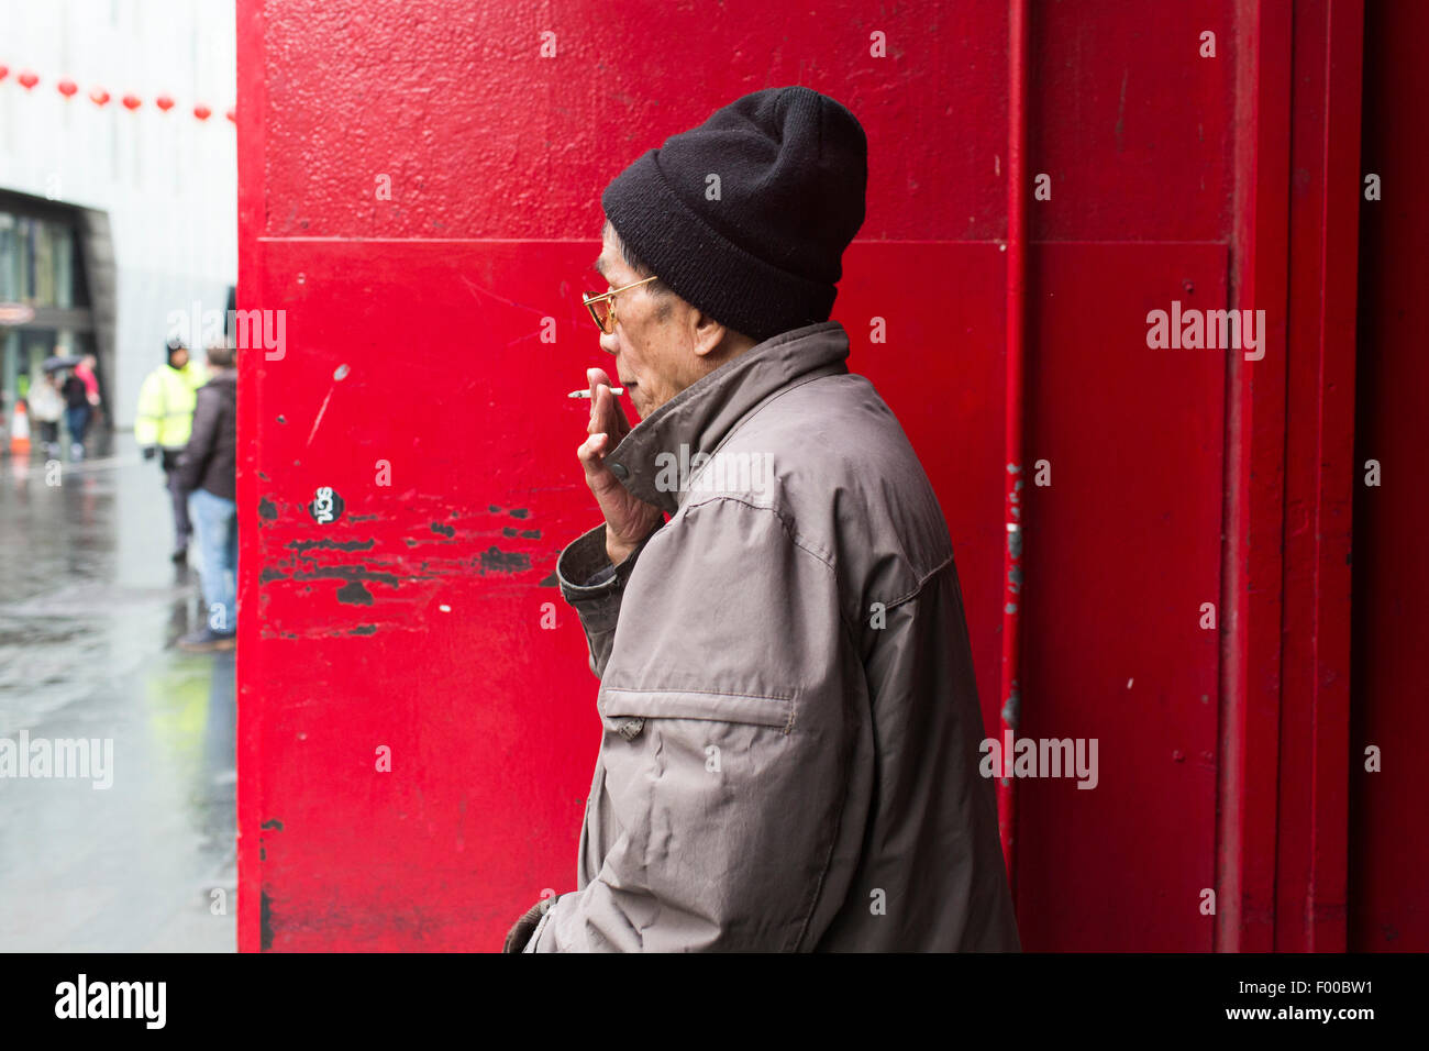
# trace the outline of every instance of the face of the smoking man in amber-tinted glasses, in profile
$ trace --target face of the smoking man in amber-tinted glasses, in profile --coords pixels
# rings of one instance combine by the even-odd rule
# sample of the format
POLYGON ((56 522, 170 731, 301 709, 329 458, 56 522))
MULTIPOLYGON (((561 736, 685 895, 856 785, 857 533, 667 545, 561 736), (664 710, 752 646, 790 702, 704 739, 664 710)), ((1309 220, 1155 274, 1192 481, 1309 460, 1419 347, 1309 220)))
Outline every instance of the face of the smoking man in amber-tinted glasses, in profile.
MULTIPOLYGON (((597 269, 610 289, 640 280, 620 259, 612 230, 606 230, 597 269)), ((616 330, 600 335, 600 347, 616 356, 616 382, 626 389, 640 419, 680 393, 707 369, 700 367, 692 307, 670 296, 652 297, 649 285, 622 292, 614 299, 616 330), (664 316, 660 316, 660 306, 664 316)))

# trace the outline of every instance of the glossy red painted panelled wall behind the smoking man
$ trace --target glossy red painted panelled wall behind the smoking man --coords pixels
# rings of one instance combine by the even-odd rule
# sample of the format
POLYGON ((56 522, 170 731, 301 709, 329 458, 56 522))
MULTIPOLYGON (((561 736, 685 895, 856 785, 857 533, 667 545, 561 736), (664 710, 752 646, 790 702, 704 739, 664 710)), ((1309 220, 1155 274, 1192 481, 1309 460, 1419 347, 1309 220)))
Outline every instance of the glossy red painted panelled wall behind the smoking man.
MULTIPOLYGON (((1100 742, 1096 791, 1019 785, 1032 949, 1218 945, 1199 895, 1240 701, 1199 622, 1226 605, 1242 375, 1149 350, 1146 312, 1245 293, 1256 11, 1032 4, 1052 199, 1029 206, 1026 459, 1053 483, 1027 492, 1020 732, 1100 742)), ((550 578, 597 522, 563 395, 604 357, 579 305, 599 196, 760 87, 827 92, 867 130, 835 317, 942 498, 997 725, 1006 4, 240 0, 239 56, 239 305, 287 335, 240 366, 240 948, 496 948, 574 888, 596 682, 550 578)))

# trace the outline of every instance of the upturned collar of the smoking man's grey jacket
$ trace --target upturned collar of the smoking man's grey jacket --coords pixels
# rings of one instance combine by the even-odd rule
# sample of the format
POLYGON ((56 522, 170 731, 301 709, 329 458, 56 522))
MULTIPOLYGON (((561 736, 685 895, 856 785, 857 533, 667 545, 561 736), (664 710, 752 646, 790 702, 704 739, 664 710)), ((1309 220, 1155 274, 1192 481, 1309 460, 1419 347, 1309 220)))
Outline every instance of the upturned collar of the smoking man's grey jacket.
POLYGON ((683 493, 656 488, 660 453, 713 453, 742 419, 773 395, 849 370, 849 333, 839 322, 790 329, 697 379, 640 420, 606 459, 633 496, 673 515, 683 493))

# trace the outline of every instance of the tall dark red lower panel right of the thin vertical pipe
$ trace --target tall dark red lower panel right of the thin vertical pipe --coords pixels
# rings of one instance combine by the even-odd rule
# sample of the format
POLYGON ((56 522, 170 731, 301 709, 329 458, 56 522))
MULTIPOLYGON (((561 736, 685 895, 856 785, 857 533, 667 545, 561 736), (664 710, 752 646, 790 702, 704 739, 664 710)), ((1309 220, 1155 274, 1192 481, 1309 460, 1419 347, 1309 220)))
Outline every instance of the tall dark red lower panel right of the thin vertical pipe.
POLYGON ((1146 315, 1223 306, 1226 249, 1032 259, 1019 736, 1096 738, 1099 781, 1019 782, 1022 942, 1209 949, 1226 352, 1149 349, 1146 315))

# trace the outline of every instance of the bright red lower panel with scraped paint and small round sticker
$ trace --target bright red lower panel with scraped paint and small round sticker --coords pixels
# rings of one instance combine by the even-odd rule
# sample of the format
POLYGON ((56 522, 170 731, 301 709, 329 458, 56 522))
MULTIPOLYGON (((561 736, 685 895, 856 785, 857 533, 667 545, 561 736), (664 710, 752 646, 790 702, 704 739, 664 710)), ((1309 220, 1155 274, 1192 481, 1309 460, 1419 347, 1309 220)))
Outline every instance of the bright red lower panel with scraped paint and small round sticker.
POLYGON ((287 353, 250 357, 244 388, 264 947, 492 948, 573 881, 596 684, 549 578, 597 520, 574 459, 586 410, 564 398, 602 357, 574 293, 597 252, 256 256, 254 302, 289 312, 287 353), (322 486, 343 508, 327 525, 309 509, 322 486))

